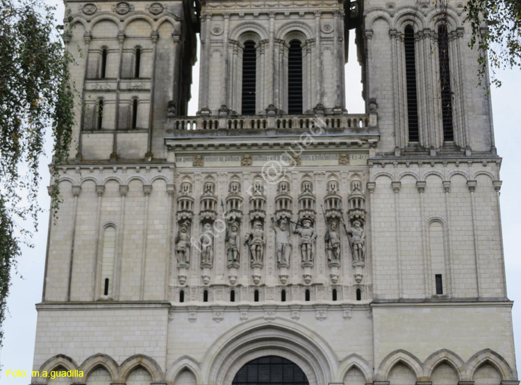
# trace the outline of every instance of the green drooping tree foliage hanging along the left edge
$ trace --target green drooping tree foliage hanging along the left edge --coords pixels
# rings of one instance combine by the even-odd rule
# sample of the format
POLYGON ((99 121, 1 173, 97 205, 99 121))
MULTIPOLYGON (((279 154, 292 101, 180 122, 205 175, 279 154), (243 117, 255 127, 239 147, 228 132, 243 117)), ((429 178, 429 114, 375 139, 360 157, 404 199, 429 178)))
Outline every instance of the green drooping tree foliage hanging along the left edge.
MULTIPOLYGON (((74 123, 71 56, 44 2, 0 0, 0 346, 10 274, 36 229, 38 166, 51 130, 54 163, 67 161, 74 123), (32 221, 34 228, 19 225, 32 221)), ((52 173, 57 172, 56 167, 52 173)), ((51 198, 57 208, 58 185, 51 198)))

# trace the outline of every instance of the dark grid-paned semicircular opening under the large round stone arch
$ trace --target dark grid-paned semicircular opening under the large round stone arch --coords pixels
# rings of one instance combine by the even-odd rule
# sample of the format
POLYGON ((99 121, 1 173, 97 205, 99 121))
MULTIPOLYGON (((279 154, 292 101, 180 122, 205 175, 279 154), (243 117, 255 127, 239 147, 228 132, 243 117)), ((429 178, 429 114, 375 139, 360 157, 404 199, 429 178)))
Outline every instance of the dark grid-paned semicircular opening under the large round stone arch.
POLYGON ((232 385, 309 385, 304 372, 289 359, 266 356, 249 361, 233 378, 232 385))

